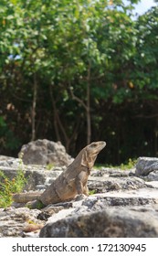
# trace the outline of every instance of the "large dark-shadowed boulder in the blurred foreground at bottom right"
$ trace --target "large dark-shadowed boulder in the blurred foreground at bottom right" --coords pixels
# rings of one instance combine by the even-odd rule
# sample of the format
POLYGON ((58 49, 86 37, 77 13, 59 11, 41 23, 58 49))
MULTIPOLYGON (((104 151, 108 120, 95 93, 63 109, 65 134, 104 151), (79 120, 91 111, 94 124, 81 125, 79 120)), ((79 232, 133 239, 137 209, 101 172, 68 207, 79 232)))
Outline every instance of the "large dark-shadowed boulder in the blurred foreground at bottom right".
POLYGON ((146 238, 158 237, 158 209, 107 208, 97 212, 48 223, 39 236, 44 238, 146 238))

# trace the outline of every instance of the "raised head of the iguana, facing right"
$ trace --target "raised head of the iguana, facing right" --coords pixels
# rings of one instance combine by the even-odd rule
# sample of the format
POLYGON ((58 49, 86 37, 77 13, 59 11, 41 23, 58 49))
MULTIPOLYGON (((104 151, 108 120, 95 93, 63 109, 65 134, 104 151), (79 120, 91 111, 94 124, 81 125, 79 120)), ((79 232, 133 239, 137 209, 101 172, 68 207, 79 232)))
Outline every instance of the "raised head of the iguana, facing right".
POLYGON ((84 147, 82 150, 81 165, 91 169, 95 163, 97 155, 105 147, 105 145, 106 145, 105 142, 100 141, 100 142, 91 143, 86 147, 84 147))

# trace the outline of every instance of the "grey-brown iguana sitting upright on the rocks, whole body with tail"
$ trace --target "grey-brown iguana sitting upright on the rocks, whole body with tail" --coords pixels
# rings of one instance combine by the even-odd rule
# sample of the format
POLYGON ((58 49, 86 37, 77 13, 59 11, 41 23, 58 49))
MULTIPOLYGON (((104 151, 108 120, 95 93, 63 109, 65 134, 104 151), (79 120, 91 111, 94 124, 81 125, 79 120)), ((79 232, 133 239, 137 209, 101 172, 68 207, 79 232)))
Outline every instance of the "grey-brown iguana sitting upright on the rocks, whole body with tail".
MULTIPOLYGON (((105 147, 106 143, 103 141, 94 142, 84 147, 75 160, 68 165, 67 169, 63 171, 53 183, 46 188, 46 190, 35 197, 33 193, 21 193, 14 195, 13 199, 16 202, 25 202, 37 199, 37 202, 43 207, 72 199, 79 194, 89 195, 89 189, 87 187, 88 177, 90 170, 93 167, 97 155, 105 147), (30 194, 30 195, 29 195, 30 194)), ((37 202, 33 203, 31 208, 37 205, 37 202)))

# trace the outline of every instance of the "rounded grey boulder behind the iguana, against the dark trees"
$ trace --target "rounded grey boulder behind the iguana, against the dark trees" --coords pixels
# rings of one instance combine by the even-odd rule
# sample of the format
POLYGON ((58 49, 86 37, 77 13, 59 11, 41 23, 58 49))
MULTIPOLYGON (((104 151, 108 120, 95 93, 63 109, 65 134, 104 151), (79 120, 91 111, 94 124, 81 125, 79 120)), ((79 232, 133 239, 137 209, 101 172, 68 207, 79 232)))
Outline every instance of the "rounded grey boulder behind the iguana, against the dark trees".
POLYGON ((60 143, 37 140, 24 144, 19 152, 23 155, 26 165, 69 165, 72 162, 70 155, 66 153, 65 147, 60 143))

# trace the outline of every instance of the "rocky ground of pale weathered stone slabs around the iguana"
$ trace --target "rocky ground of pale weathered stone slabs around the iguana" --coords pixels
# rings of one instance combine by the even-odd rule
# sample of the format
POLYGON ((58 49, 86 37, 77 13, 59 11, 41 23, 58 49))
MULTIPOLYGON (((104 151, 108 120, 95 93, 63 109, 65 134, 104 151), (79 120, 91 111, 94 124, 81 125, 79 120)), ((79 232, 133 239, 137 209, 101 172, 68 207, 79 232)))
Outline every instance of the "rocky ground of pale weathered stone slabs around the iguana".
MULTIPOLYGON (((0 170, 13 177, 19 160, 0 156, 0 170)), ((27 190, 43 190, 66 166, 24 165, 27 190)), ((0 237, 158 237, 158 158, 138 158, 131 170, 92 169, 92 195, 29 209, 0 208, 0 237)))

